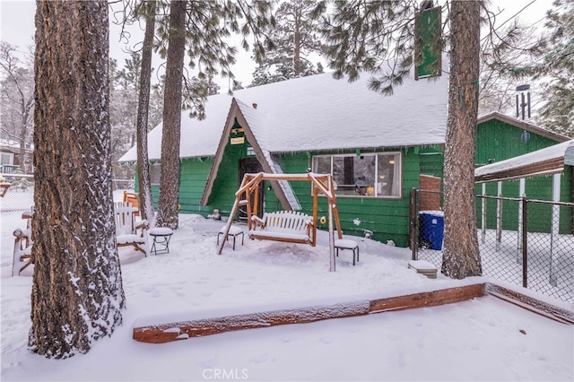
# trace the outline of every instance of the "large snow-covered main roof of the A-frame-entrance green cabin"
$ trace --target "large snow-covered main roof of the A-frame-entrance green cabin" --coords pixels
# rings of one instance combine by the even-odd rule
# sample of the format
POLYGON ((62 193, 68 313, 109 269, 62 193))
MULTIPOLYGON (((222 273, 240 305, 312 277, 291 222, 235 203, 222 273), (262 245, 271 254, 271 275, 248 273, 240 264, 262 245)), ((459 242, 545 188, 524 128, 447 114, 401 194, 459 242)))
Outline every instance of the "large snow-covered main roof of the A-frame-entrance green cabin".
MULTIPOLYGON (((370 75, 349 83, 317 74, 235 91, 257 140, 269 152, 305 152, 445 143, 448 76, 404 80, 392 96, 370 91, 370 75), (251 107, 257 105, 257 110, 251 107)), ((205 119, 181 119, 181 158, 214 156, 231 96, 208 98, 205 119)), ((149 159, 161 158, 161 128, 148 135, 149 159)), ((119 161, 135 161, 135 147, 119 161)))

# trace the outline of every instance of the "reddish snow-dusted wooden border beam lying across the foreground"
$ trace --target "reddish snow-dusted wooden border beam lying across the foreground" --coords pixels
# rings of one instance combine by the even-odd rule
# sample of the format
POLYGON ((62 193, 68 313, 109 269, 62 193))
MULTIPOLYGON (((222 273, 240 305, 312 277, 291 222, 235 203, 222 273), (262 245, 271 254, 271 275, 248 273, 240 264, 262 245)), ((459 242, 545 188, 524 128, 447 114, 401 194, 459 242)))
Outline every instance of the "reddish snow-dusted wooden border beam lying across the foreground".
POLYGON ((574 324, 574 311, 555 307, 547 302, 536 300, 491 282, 484 282, 386 299, 353 301, 319 307, 279 309, 162 325, 139 326, 134 327, 133 338, 143 343, 168 343, 235 330, 302 324, 329 318, 357 317, 387 311, 434 307, 472 300, 485 295, 492 295, 509 301, 518 307, 526 308, 536 314, 552 318, 564 324, 574 324))

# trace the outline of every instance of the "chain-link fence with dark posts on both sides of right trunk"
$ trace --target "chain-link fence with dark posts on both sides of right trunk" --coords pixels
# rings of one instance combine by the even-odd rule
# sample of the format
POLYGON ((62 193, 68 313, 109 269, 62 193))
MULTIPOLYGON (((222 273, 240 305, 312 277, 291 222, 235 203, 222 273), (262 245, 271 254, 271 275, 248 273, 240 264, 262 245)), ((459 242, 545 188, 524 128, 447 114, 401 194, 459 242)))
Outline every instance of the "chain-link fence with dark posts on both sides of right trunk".
MULTIPOLYGON (((440 270, 444 232, 442 195, 413 190, 413 259, 440 270), (428 207, 430 197, 439 200, 428 207)), ((476 195, 483 275, 574 302, 573 203, 476 195)))

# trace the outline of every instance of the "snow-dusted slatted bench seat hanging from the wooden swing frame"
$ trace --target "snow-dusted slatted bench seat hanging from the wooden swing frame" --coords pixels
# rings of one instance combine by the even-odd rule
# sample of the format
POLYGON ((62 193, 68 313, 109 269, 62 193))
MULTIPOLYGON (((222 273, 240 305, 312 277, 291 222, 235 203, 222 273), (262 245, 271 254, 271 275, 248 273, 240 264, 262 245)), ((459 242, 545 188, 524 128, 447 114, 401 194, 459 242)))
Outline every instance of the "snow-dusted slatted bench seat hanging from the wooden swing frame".
POLYGON ((313 218, 297 211, 264 213, 263 218, 251 216, 253 229, 250 239, 275 240, 289 243, 312 244, 313 218))

